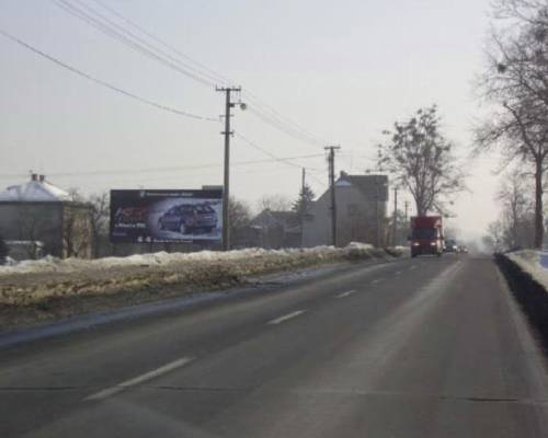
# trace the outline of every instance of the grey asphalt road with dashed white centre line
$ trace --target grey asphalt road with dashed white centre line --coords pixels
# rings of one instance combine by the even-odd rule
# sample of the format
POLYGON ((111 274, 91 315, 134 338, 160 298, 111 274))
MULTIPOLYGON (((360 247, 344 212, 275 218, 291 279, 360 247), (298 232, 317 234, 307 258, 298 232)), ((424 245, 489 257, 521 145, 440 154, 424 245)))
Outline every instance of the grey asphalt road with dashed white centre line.
POLYGON ((547 437, 490 258, 356 267, 0 350, 0 437, 547 437))

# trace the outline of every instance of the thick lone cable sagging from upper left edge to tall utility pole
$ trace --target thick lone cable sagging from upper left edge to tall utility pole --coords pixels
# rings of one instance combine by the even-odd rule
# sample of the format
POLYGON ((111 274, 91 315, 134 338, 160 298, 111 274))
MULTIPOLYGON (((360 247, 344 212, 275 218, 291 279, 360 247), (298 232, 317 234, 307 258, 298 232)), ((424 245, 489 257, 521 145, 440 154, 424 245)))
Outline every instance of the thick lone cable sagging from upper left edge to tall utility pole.
POLYGON ((30 45, 28 43, 25 43, 24 41, 22 41, 22 39, 15 37, 13 35, 11 35, 11 34, 9 34, 8 32, 5 32, 2 28, 0 28, 0 34, 3 35, 5 38, 8 38, 8 39, 10 39, 10 41, 12 41, 12 42, 21 45, 22 47, 25 47, 26 49, 28 49, 31 51, 33 51, 34 54, 39 55, 41 57, 43 57, 43 58, 45 58, 45 59, 47 59, 47 60, 56 64, 57 66, 62 67, 62 68, 71 71, 71 72, 73 72, 73 73, 76 73, 76 74, 78 74, 78 76, 80 76, 82 78, 85 78, 89 81, 92 81, 92 82, 94 82, 94 83, 96 83, 99 85, 102 85, 102 87, 105 87, 105 88, 107 88, 107 89, 110 89, 112 91, 115 91, 116 93, 123 94, 126 97, 130 97, 130 99, 133 99, 135 101, 138 101, 140 103, 144 103, 144 104, 147 104, 147 105, 150 105, 150 106, 155 106, 155 107, 157 107, 159 110, 163 110, 163 111, 167 111, 169 113, 178 114, 180 116, 195 118, 195 119, 198 119, 198 120, 218 122, 218 119, 214 118, 214 117, 201 116, 198 114, 189 113, 186 111, 178 110, 178 108, 174 108, 172 106, 163 105, 163 104, 153 102, 153 101, 151 101, 149 99, 141 97, 141 96, 139 96, 137 94, 134 94, 134 93, 132 93, 129 91, 126 91, 126 90, 121 89, 121 88, 118 88, 116 85, 113 85, 112 83, 109 83, 109 82, 105 82, 105 81, 103 81, 101 79, 98 79, 98 78, 95 78, 95 77, 93 77, 93 76, 91 76, 91 74, 89 74, 89 73, 87 73, 87 72, 84 72, 82 70, 77 69, 76 67, 69 66, 68 64, 66 64, 66 62, 64 62, 64 61, 61 61, 61 60, 59 60, 57 58, 54 58, 53 56, 46 54, 45 51, 42 51, 41 49, 38 49, 38 48, 30 45))

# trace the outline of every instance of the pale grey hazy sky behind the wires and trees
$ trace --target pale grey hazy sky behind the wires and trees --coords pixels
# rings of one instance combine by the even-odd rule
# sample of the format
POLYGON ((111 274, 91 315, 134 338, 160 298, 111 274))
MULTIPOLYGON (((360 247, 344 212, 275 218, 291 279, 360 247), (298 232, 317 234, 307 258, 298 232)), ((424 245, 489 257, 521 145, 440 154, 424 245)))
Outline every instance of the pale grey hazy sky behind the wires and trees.
MULTIPOLYGON (((115 20, 93 0, 70 1, 115 20)), ((488 0, 102 1, 233 79, 316 138, 340 143, 338 171, 370 168, 380 131, 432 103, 439 105, 458 153, 468 153, 471 127, 480 115, 472 82, 482 66, 488 0)), ((213 117, 224 111, 222 95, 210 85, 133 51, 55 1, 2 0, 0 27, 160 104, 213 117)), ((57 185, 87 193, 221 183, 219 123, 133 101, 1 36, 0 59, 2 186, 24 181, 31 169, 57 185), (189 169, 203 164, 212 166, 189 169), (116 172, 125 170, 129 172, 116 172)), ((249 103, 250 111, 235 112, 235 129, 277 157, 315 155, 292 162, 310 168, 309 183, 321 194, 328 177, 323 148, 265 124, 251 111, 264 106, 249 103)), ((260 150, 233 139, 233 162, 265 159, 260 150)), ((468 170, 472 192, 455 205, 453 227, 477 234, 495 218, 495 166, 494 158, 475 160, 468 170)), ((231 178, 232 194, 255 205, 262 195, 294 198, 300 169, 276 161, 235 165, 231 178)))

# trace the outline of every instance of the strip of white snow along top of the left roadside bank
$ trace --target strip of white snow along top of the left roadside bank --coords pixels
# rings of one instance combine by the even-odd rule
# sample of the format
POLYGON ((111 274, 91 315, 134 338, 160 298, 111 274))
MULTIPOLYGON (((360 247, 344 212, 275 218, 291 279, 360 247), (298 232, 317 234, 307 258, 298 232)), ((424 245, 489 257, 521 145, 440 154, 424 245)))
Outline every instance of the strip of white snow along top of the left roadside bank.
POLYGON ((310 249, 284 249, 264 250, 260 247, 220 251, 199 251, 194 253, 167 253, 158 252, 150 254, 135 254, 126 257, 104 257, 96 260, 66 258, 60 260, 46 256, 36 261, 24 261, 15 265, 0 266, 0 276, 11 274, 31 273, 77 273, 81 270, 102 270, 126 266, 168 266, 184 262, 222 262, 222 261, 247 261, 264 256, 278 256, 284 258, 300 257, 302 255, 333 256, 336 254, 364 255, 376 251, 367 243, 351 242, 343 249, 334 246, 315 246, 310 249))

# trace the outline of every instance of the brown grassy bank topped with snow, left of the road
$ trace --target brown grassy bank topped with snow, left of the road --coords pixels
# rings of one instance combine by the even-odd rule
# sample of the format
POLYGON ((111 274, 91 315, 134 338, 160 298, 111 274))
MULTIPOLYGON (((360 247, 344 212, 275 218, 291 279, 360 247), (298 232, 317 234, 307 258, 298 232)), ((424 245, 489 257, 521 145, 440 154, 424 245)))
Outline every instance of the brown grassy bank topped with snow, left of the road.
POLYGON ((404 249, 351 243, 339 249, 155 253, 95 261, 45 258, 0 267, 0 330, 249 284, 259 275, 365 260, 404 249))

